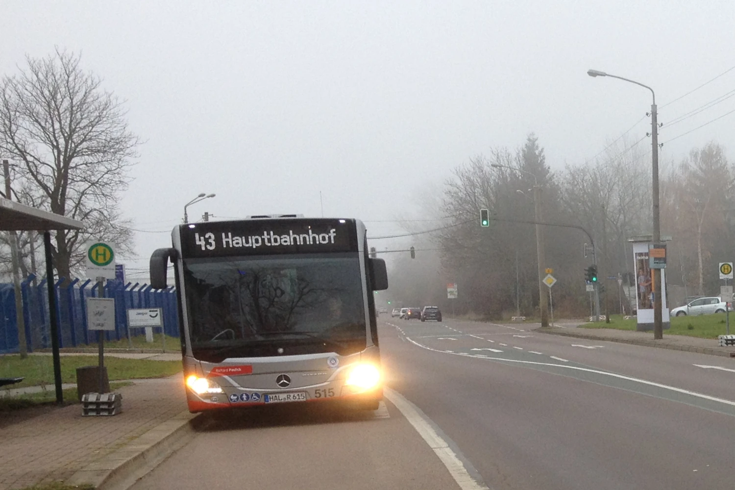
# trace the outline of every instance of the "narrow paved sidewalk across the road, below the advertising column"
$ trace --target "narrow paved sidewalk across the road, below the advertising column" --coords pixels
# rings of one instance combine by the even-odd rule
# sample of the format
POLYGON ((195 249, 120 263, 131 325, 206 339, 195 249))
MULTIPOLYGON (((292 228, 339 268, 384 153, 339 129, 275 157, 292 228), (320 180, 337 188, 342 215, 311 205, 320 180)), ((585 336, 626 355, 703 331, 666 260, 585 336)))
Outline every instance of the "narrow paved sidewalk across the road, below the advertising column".
POLYGON ((633 330, 617 330, 615 328, 535 328, 534 331, 575 337, 577 339, 606 340, 623 344, 645 345, 663 349, 686 350, 713 356, 735 357, 735 347, 720 347, 717 339, 700 339, 686 335, 668 335, 664 330, 664 338, 653 339, 653 332, 633 330))

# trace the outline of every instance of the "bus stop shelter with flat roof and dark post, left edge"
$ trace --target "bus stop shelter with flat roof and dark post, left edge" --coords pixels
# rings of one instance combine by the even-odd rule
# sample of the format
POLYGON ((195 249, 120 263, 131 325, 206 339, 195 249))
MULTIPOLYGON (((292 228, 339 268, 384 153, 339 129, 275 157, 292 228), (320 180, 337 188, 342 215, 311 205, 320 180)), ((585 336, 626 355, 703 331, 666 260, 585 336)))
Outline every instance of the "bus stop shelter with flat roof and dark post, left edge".
MULTIPOLYGON (((46 284, 49 286, 49 322, 51 327, 51 350, 54 354, 54 385, 56 401, 62 403, 61 360, 59 356, 59 325, 54 289, 54 265, 51 262, 51 231, 79 230, 84 223, 52 212, 36 209, 25 204, 0 198, 0 231, 43 231, 43 250, 46 253, 46 284)), ((16 311, 16 315, 23 314, 16 311)))

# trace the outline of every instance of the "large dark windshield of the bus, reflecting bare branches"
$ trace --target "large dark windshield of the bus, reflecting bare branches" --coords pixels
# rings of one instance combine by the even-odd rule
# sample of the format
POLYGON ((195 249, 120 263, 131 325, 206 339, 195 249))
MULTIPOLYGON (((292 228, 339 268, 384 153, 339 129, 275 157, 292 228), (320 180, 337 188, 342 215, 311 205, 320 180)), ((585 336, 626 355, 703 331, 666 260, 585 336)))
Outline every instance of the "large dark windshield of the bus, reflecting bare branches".
POLYGON ((184 259, 184 290, 196 359, 366 345, 358 253, 184 259))

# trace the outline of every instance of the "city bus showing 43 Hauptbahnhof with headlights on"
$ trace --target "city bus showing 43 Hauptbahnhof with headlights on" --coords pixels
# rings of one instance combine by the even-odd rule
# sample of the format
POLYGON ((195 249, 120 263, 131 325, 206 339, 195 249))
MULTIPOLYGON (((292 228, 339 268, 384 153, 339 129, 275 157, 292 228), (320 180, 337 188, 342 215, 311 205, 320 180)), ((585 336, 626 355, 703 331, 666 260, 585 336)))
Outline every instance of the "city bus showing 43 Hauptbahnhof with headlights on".
POLYGON ((267 215, 185 223, 151 255, 151 287, 179 304, 192 413, 383 396, 374 292, 385 262, 348 218, 267 215))

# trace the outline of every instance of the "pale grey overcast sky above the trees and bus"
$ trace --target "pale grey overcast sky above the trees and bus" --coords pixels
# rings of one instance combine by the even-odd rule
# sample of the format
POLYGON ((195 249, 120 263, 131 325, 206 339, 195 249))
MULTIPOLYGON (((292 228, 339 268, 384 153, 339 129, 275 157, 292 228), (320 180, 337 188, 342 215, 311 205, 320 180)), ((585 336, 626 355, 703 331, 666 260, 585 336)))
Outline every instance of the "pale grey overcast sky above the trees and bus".
MULTIPOLYGON (((123 197, 146 267, 184 203, 215 217, 359 217, 401 231, 453 167, 534 131, 554 170, 584 162, 650 109, 666 123, 735 89, 733 1, 1 1, 0 73, 54 46, 127 100, 146 143, 123 197)), ((735 109, 661 129, 666 142, 735 109)), ((630 133, 638 140, 649 127, 630 133)), ((681 159, 735 114, 667 143, 681 159)), ((643 143, 650 145, 650 140, 643 143)), ((642 162, 649 165, 650 162, 642 162)), ((431 226, 431 223, 426 223, 431 226)))

